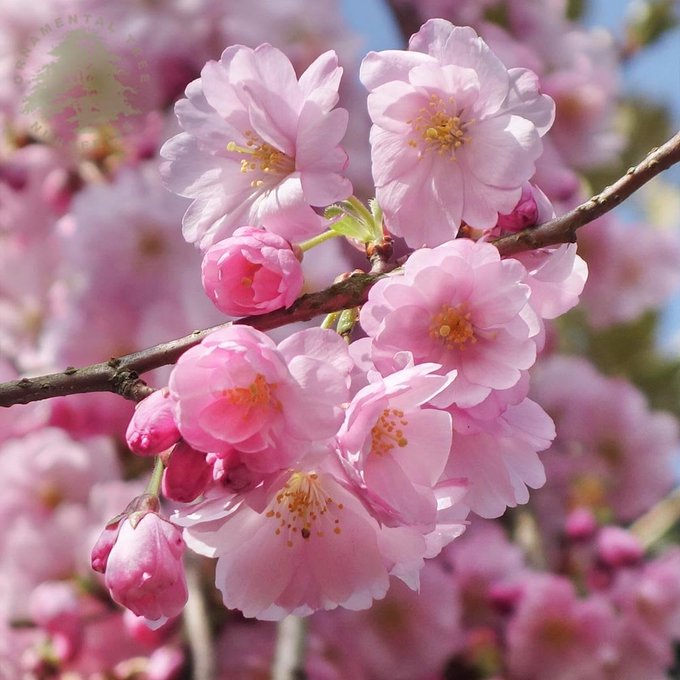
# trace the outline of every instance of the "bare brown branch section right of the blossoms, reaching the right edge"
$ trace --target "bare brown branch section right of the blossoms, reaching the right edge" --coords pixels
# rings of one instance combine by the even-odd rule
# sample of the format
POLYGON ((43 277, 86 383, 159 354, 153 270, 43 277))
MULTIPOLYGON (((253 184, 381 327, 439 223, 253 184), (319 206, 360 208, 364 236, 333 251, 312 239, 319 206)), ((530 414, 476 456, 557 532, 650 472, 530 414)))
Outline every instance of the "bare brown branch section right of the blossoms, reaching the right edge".
POLYGON ((575 243, 576 230, 601 217, 622 203, 640 187, 680 162, 680 132, 663 146, 652 149, 647 157, 614 184, 573 210, 538 227, 525 229, 493 242, 501 255, 513 255, 523 250, 535 250, 558 243, 575 243))

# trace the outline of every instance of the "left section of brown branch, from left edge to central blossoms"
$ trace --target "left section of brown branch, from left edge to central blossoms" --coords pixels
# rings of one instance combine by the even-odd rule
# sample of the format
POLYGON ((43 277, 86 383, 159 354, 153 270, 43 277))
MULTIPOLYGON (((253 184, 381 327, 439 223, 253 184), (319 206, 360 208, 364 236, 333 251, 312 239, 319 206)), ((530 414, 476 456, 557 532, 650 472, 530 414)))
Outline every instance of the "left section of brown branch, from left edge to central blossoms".
MULTIPOLYGON (((308 321, 320 314, 357 307, 366 302, 370 287, 381 276, 384 274, 353 274, 318 293, 302 295, 288 309, 245 317, 234 323, 247 324, 252 328, 268 331, 296 321, 308 321)), ((140 373, 175 363, 184 352, 197 345, 206 335, 228 326, 229 323, 194 331, 183 338, 126 354, 117 359, 109 359, 101 364, 84 368, 70 367, 62 373, 2 383, 0 406, 28 404, 32 401, 85 392, 114 392, 126 399, 139 401, 153 391, 139 378, 140 373)))

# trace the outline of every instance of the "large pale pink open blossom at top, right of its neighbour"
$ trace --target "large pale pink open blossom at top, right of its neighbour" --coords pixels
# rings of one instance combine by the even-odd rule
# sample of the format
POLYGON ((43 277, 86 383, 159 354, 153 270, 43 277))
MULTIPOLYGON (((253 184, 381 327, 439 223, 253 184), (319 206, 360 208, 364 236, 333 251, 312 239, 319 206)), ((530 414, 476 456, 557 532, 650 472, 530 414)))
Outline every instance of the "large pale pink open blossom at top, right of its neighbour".
POLYGON ((508 71, 468 27, 433 19, 409 52, 370 52, 361 67, 373 120, 376 196, 412 247, 510 213, 534 174, 552 100, 526 69, 508 71))

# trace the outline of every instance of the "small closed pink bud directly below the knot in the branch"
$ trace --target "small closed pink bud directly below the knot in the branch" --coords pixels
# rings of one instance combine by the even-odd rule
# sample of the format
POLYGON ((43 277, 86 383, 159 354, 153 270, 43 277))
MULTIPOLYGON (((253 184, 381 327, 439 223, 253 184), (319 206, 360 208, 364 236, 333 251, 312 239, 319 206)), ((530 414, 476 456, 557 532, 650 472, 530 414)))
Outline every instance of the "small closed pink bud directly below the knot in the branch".
POLYGON ((173 416, 174 402, 167 388, 156 390, 137 404, 125 438, 140 456, 155 456, 180 438, 173 416))

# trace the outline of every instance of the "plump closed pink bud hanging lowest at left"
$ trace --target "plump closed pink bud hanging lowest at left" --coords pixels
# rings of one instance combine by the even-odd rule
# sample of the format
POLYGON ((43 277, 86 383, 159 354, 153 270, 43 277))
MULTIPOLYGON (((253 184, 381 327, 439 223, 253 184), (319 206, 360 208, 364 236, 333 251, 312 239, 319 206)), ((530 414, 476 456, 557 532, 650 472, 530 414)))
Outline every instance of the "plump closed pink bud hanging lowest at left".
POLYGON ((177 616, 187 601, 181 531, 154 512, 126 518, 106 562, 111 597, 152 622, 177 616))

